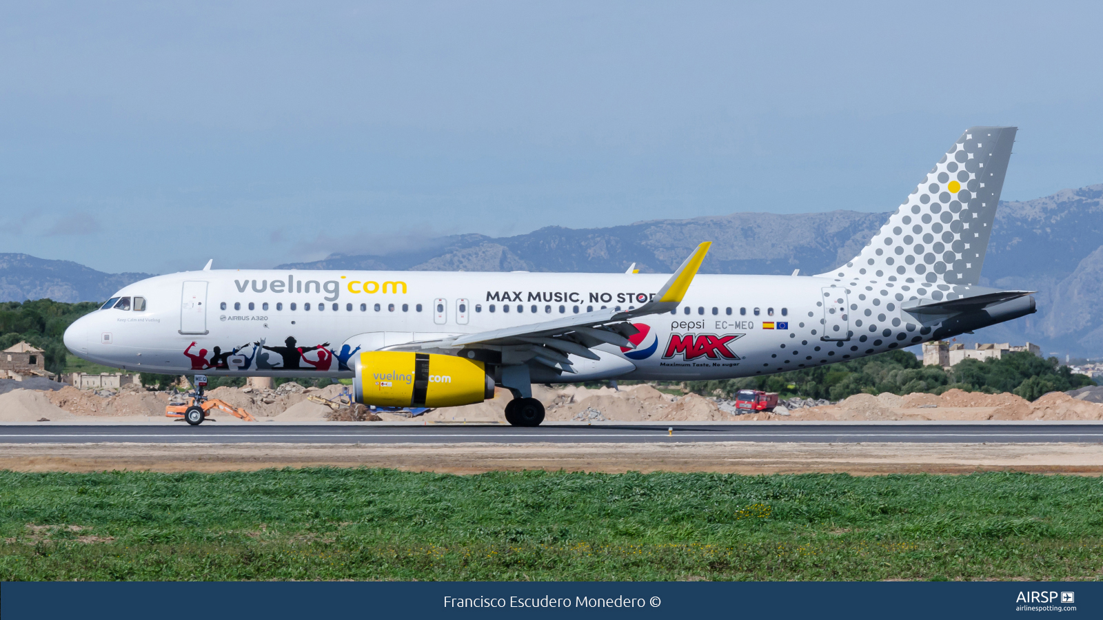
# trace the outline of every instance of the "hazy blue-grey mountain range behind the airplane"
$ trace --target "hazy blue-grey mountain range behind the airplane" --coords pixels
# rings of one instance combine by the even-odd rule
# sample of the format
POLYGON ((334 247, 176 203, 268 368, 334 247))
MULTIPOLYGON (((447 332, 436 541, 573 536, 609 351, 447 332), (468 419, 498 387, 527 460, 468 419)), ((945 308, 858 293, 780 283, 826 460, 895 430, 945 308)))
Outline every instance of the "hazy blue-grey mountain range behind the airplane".
MULTIPOLYGON (((389 253, 333 254, 281 269, 670 272, 713 242, 702 272, 821 274, 856 256, 889 213, 736 213, 608 228, 550 226, 512 237, 468 234, 389 253)), ((0 254, 0 300, 101 300, 144 274, 0 254)), ((1038 313, 986 328, 982 342, 1031 342, 1072 355, 1103 353, 1103 184, 1000 202, 979 282, 1038 291, 1038 313)), ((959 341, 962 341, 959 339, 959 341)))

